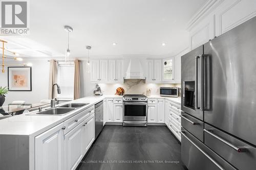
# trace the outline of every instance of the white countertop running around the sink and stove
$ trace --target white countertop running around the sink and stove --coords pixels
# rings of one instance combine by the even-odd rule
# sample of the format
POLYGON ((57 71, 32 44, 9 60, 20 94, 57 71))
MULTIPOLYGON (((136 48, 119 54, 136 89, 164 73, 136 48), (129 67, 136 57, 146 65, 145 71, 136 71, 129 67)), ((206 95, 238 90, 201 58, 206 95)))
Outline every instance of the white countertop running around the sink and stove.
MULTIPOLYGON (((81 110, 87 109, 105 98, 122 98, 118 95, 87 96, 67 103, 89 103, 65 115, 26 115, 20 114, 0 120, 0 135, 29 135, 37 136, 52 127, 64 122, 70 117, 78 114, 81 110)), ((151 95, 148 98, 167 99, 180 104, 181 98, 168 98, 160 95, 151 95)), ((62 105, 62 104, 60 104, 62 105)))

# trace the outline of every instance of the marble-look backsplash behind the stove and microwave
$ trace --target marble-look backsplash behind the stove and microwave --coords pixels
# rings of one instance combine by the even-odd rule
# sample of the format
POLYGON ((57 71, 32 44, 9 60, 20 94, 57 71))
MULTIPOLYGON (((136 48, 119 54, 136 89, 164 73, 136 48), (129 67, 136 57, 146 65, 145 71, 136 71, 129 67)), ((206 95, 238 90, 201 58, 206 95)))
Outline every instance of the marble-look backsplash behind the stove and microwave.
POLYGON ((151 94, 159 94, 160 87, 181 87, 181 84, 155 84, 145 83, 145 80, 141 79, 129 79, 124 80, 123 84, 105 84, 99 83, 99 86, 103 94, 115 94, 118 87, 124 89, 125 94, 146 94, 147 89, 152 89, 151 94))

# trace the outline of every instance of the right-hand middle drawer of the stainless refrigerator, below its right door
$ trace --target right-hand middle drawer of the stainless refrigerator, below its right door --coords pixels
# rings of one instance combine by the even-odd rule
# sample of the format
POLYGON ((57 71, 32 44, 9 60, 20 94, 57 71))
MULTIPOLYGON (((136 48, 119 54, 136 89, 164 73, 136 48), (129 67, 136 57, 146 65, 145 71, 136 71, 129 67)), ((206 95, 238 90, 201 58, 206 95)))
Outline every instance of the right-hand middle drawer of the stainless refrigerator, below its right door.
POLYGON ((242 140, 204 125, 204 143, 238 169, 256 168, 256 148, 242 140))

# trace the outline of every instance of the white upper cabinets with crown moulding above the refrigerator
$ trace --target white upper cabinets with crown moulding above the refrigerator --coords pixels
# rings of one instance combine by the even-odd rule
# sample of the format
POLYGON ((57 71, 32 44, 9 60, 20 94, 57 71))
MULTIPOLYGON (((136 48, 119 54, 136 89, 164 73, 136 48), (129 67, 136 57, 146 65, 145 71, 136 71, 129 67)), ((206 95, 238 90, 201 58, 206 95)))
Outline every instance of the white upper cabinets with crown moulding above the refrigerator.
POLYGON ((255 0, 208 1, 188 24, 190 50, 254 16, 256 16, 255 0))

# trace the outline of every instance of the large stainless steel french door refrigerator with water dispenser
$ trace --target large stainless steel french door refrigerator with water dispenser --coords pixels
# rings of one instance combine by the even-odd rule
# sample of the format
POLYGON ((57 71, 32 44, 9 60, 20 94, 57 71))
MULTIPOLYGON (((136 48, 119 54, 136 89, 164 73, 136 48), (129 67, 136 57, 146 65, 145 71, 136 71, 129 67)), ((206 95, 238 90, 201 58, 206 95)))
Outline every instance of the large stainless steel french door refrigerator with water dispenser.
POLYGON ((182 161, 256 169, 256 17, 181 57, 182 161))

